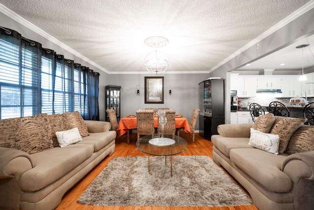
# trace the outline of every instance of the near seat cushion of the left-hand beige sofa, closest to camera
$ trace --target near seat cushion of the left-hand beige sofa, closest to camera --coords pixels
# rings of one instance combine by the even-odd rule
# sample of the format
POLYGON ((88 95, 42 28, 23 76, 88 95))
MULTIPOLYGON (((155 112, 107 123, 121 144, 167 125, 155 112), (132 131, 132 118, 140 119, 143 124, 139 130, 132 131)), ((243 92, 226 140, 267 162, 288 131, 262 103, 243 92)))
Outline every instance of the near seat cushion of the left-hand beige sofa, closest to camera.
POLYGON ((19 180, 24 191, 36 191, 59 180, 65 174, 87 160, 93 154, 92 145, 70 145, 31 154, 34 168, 21 175, 19 180))

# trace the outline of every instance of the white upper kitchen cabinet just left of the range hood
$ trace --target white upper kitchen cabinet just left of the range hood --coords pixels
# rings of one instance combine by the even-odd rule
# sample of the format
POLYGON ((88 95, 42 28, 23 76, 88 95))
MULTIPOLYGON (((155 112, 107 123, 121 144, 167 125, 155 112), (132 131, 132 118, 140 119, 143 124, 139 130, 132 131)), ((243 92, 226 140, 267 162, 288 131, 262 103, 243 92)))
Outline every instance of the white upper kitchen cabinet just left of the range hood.
POLYGON ((236 90, 238 97, 255 97, 256 96, 256 77, 237 77, 236 90))

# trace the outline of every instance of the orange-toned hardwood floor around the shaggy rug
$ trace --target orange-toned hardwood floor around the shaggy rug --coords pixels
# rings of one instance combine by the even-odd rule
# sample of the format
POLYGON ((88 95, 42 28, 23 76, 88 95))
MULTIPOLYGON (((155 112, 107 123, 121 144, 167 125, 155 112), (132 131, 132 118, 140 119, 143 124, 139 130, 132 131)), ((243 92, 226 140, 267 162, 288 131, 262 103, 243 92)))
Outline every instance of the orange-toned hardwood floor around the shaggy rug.
MULTIPOLYGON (((188 133, 180 134, 188 142, 187 150, 180 155, 206 155, 212 158, 212 143, 195 134, 195 142, 189 138, 188 133)), ((98 176, 98 174, 105 168, 108 162, 116 156, 145 156, 146 154, 137 150, 135 146, 136 133, 132 134, 130 144, 127 144, 127 137, 123 135, 116 139, 116 150, 111 156, 105 157, 92 171, 90 171, 82 180, 80 180, 75 186, 73 186, 64 196, 60 205, 56 210, 258 210, 258 208, 252 204, 250 206, 236 206, 236 207, 96 207, 91 205, 78 204, 77 200, 81 194, 85 191, 87 186, 98 176)), ((227 173, 228 174, 228 173, 227 173)), ((235 181, 236 182, 236 181, 235 181)), ((242 188, 243 189, 243 188, 242 188)), ((245 190, 244 190, 245 191, 245 190)))

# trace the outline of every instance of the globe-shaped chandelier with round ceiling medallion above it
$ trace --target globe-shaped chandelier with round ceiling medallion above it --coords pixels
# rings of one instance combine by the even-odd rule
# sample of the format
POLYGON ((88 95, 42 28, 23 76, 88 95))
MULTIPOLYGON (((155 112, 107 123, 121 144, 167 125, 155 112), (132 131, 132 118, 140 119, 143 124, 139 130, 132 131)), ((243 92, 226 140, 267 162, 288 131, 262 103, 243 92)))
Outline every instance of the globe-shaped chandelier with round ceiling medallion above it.
POLYGON ((162 36, 151 36, 145 39, 144 43, 149 46, 156 48, 155 51, 150 52, 145 57, 145 67, 152 74, 162 74, 169 66, 169 60, 161 51, 157 51, 157 48, 164 47, 169 44, 168 39, 162 36))

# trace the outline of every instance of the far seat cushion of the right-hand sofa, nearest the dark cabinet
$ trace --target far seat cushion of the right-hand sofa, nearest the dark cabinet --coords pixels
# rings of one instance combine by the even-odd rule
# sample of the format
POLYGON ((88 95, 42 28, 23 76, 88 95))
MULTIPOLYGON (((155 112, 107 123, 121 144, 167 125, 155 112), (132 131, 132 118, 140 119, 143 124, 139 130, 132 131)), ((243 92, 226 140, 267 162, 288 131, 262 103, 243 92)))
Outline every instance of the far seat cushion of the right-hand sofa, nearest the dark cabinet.
POLYGON ((232 138, 222 137, 219 135, 211 136, 212 144, 227 157, 230 157, 230 150, 236 148, 252 148, 249 143, 249 138, 232 138))

